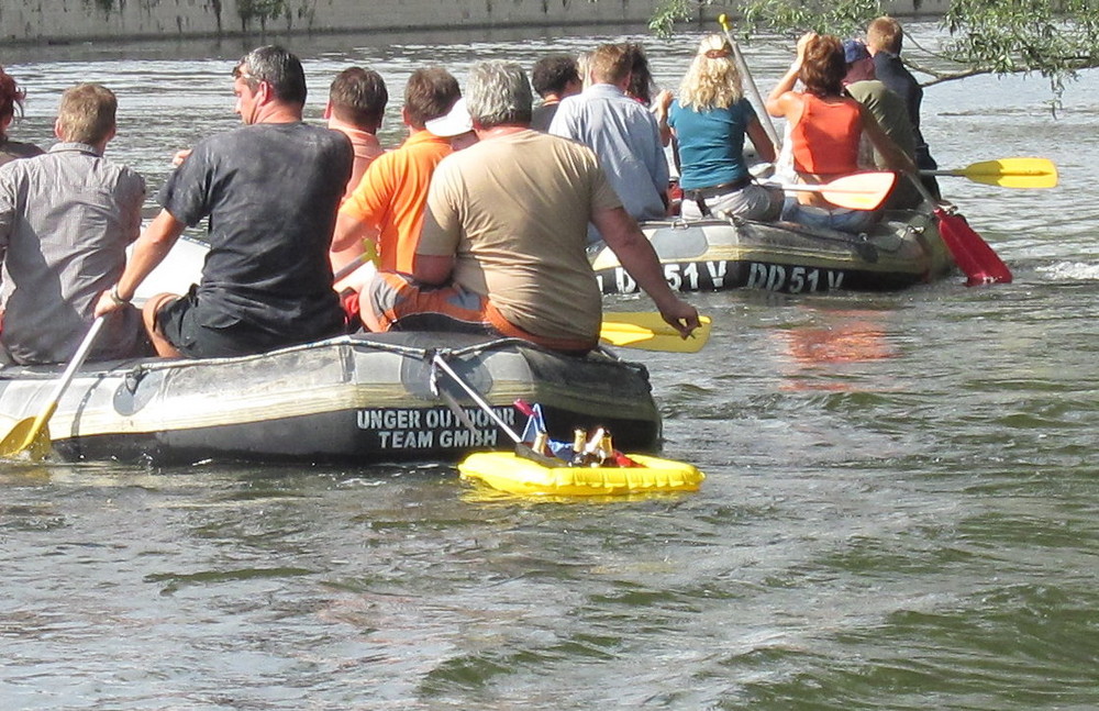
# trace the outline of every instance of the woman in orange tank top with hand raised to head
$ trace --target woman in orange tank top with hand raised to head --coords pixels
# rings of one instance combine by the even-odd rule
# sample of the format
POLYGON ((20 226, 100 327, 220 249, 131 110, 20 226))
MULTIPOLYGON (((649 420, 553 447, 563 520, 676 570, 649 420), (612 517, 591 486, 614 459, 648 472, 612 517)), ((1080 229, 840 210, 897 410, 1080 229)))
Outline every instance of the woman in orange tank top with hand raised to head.
MULTIPOLYGON (((863 132, 895 170, 915 165, 886 135, 874 116, 843 92, 847 65, 839 37, 807 33, 798 40, 798 57, 767 98, 767 113, 790 124, 793 168, 802 182, 828 182, 857 173, 863 132), (798 79, 804 91, 793 91, 798 79)), ((880 216, 877 211, 836 208, 814 192, 788 198, 784 220, 843 232, 863 232, 880 216)))

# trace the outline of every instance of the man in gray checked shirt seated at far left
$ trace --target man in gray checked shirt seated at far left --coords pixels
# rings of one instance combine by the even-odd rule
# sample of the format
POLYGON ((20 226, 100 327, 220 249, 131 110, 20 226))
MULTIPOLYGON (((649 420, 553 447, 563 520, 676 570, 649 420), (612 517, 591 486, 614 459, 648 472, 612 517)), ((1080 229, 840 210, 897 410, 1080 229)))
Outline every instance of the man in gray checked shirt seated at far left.
MULTIPOLYGON (((145 181, 102 157, 116 100, 99 85, 62 97, 60 143, 0 168, 3 343, 19 364, 63 363, 91 326, 96 301, 122 274, 137 238, 145 181)), ((91 359, 149 355, 133 308, 114 314, 91 359)))

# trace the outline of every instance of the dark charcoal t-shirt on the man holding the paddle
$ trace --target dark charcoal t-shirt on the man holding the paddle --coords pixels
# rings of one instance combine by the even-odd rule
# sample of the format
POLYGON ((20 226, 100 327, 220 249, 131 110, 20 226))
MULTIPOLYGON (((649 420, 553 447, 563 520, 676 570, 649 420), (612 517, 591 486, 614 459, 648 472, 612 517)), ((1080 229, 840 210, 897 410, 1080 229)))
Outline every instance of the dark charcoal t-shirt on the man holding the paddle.
POLYGON ((189 225, 209 216, 197 292, 209 325, 244 322, 273 344, 331 334, 326 254, 348 153, 338 133, 304 123, 258 123, 196 145, 160 201, 189 225))

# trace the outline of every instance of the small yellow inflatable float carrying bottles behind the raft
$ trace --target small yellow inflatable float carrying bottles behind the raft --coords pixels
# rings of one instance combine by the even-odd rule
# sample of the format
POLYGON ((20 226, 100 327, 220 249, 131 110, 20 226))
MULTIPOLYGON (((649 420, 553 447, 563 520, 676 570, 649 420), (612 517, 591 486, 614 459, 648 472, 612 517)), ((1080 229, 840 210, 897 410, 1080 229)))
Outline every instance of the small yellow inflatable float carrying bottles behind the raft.
POLYGON ((685 462, 631 454, 634 467, 552 466, 513 452, 478 452, 458 465, 463 479, 523 496, 618 496, 697 491, 706 478, 685 462))

